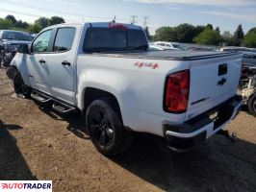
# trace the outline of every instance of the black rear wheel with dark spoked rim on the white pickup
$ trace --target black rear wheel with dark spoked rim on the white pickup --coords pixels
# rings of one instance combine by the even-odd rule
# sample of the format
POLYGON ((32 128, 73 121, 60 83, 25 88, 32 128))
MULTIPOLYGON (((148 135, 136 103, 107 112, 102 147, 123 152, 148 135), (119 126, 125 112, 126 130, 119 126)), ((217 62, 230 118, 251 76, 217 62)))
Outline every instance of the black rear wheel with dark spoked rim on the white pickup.
POLYGON ((131 132, 123 127, 121 115, 109 99, 93 101, 86 114, 87 129, 96 149, 104 156, 115 156, 126 150, 131 132))

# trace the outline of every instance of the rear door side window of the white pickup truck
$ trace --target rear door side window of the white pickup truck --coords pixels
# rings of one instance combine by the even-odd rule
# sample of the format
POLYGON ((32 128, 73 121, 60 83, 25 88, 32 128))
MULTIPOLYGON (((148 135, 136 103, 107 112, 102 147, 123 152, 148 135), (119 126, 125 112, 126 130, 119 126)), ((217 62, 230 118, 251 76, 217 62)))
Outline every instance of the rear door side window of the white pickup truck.
POLYGON ((64 52, 71 50, 75 32, 75 28, 60 28, 55 38, 53 51, 64 52))

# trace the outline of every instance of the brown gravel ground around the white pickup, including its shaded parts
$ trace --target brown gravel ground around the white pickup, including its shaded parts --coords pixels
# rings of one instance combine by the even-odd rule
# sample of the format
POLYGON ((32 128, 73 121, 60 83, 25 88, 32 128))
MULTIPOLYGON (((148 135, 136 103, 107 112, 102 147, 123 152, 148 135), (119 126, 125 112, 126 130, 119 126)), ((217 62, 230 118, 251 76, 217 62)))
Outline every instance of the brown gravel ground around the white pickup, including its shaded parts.
POLYGON ((231 143, 216 135, 187 154, 139 134, 127 152, 100 155, 77 114, 15 97, 0 71, 0 180, 53 180, 56 192, 256 191, 256 118, 243 110, 228 125, 231 143))

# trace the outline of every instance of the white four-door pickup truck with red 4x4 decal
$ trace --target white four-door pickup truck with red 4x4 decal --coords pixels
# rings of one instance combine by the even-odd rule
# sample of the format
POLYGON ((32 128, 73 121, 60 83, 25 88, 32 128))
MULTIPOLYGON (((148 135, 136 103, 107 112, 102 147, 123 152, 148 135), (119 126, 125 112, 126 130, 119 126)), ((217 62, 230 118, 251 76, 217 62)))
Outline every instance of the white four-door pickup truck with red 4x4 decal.
POLYGON ((79 109, 97 150, 126 149, 131 132, 166 139, 186 151, 222 130, 239 112, 242 55, 148 51, 139 26, 61 24, 21 45, 12 62, 17 94, 79 109))

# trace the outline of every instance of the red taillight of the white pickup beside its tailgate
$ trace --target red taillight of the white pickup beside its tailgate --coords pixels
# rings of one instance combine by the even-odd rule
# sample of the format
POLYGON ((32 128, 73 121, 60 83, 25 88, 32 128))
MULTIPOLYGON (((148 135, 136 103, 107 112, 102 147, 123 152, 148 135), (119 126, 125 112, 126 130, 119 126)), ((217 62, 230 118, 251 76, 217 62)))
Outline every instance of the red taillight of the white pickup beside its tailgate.
POLYGON ((188 108, 190 93, 190 70, 169 74, 166 78, 164 109, 181 113, 188 108))

